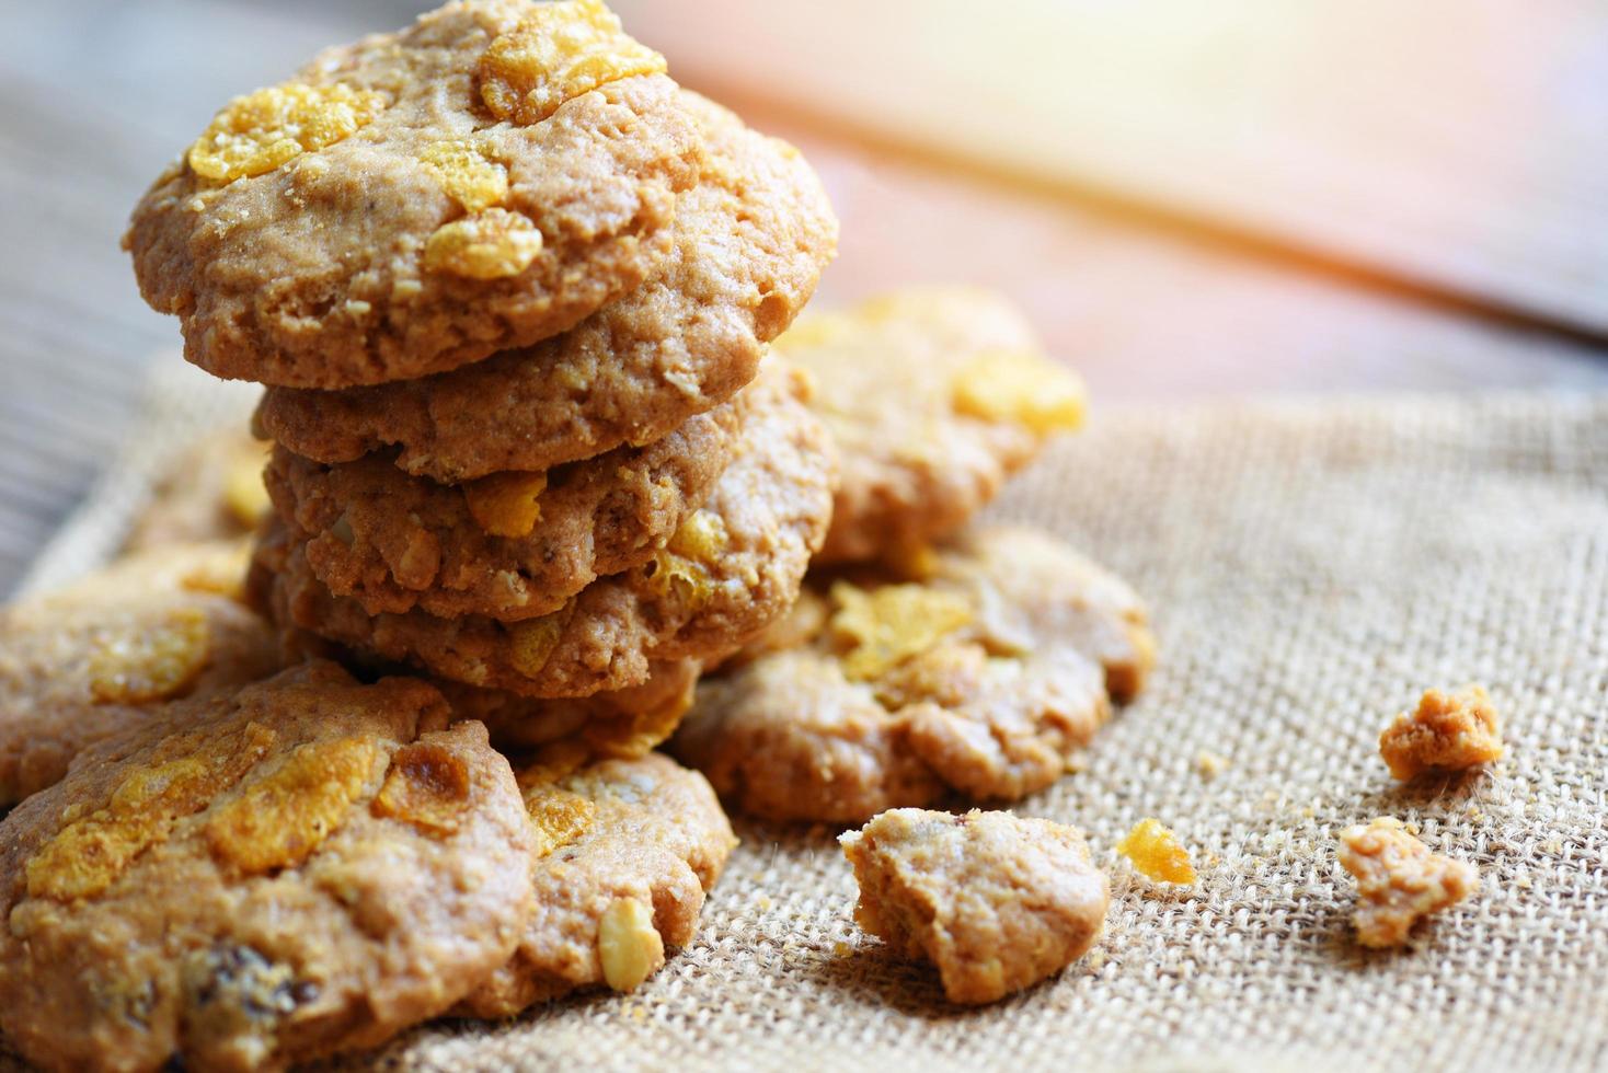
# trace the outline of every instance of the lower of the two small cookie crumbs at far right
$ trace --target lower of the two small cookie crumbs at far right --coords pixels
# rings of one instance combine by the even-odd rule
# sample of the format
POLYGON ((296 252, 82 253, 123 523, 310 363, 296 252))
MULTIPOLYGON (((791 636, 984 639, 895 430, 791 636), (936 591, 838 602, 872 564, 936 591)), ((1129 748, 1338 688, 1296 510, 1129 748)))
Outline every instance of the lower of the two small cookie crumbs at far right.
POLYGON ((1479 887, 1473 864, 1430 853, 1389 816, 1343 830, 1339 863, 1357 879, 1352 920, 1364 946, 1401 946, 1413 924, 1479 887))

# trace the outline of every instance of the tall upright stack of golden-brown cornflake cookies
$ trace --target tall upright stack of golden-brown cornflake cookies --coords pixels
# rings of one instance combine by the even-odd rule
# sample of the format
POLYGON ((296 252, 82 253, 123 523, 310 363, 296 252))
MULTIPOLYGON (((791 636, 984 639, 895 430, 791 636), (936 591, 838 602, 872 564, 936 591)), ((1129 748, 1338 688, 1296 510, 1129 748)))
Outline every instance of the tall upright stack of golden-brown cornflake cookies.
POLYGON ((224 109, 129 244, 187 357, 269 386, 283 626, 527 745, 650 687, 638 749, 791 604, 831 467, 802 381, 759 369, 835 222, 600 3, 326 51, 224 109))

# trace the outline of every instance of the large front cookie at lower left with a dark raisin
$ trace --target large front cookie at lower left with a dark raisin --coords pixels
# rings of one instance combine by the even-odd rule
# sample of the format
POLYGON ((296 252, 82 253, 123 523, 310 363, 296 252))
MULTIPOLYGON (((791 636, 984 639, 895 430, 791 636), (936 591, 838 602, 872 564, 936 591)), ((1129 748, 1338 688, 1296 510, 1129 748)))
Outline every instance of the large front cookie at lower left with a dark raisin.
POLYGON ((534 830, 425 683, 306 663, 108 739, 0 824, 0 1026, 51 1068, 281 1068, 505 964, 534 830))

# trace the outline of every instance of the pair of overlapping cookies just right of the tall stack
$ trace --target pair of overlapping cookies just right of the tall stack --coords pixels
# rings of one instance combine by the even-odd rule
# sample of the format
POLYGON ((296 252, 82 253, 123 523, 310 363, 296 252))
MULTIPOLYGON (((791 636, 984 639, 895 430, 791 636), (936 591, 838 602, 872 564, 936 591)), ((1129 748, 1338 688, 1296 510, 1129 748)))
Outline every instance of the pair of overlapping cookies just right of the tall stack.
POLYGON ((672 752, 772 819, 1050 785, 1140 691, 1155 639, 1118 577, 970 519, 1079 426, 1081 381, 965 289, 806 318, 775 349, 812 373, 838 443, 831 530, 791 615, 699 683, 672 752))

